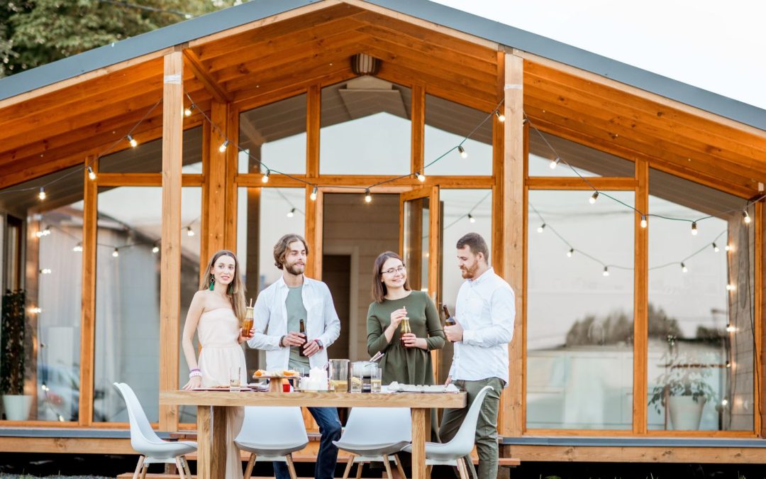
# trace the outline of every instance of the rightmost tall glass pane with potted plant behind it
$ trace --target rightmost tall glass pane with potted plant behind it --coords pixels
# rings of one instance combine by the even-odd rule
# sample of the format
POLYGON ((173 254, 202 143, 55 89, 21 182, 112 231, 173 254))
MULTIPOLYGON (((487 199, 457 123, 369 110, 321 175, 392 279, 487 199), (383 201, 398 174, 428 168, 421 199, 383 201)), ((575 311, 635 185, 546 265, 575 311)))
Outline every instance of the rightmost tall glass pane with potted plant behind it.
POLYGON ((697 235, 649 218, 649 428, 751 431, 755 223, 744 199, 663 172, 649 191, 650 214, 704 218, 697 235))

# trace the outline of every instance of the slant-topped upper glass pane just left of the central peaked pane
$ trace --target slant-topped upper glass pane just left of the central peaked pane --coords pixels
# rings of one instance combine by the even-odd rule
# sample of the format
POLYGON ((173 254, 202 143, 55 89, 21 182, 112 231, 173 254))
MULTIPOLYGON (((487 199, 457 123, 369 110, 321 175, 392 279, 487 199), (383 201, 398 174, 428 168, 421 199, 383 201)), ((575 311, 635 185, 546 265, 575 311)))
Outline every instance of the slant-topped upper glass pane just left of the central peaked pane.
POLYGON ((306 173, 306 94, 240 113, 239 172, 306 173), (244 151, 242 151, 244 150, 244 151))

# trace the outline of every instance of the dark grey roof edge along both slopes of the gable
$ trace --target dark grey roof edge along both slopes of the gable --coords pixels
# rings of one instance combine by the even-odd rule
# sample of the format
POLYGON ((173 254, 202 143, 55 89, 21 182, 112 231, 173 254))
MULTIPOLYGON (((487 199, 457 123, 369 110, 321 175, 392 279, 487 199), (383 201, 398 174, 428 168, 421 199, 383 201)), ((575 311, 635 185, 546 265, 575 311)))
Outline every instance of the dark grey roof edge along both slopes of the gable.
MULTIPOLYGON (((182 44, 195 38, 205 37, 219 31, 277 15, 321 0, 254 0, 236 7, 169 25, 137 37, 127 38, 113 44, 95 48, 67 57, 51 64, 33 68, 0 80, 0 100, 15 97, 31 90, 54 84, 61 80, 108 67, 182 44)), ((702 88, 692 87, 678 80, 611 60, 575 48, 550 38, 533 34, 516 27, 504 25, 488 18, 479 17, 427 0, 365 0, 405 15, 464 31, 479 38, 519 48, 541 57, 568 64, 584 71, 612 78, 621 83, 647 90, 692 107, 709 111, 731 120, 766 130, 766 110, 732 98, 714 94, 702 88)))

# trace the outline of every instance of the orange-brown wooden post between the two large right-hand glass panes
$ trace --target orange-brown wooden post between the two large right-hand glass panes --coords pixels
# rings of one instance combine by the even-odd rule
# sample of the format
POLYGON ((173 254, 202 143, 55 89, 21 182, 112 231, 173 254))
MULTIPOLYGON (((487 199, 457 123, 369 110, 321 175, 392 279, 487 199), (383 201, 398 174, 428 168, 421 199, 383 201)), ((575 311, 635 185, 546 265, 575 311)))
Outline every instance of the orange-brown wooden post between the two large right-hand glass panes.
MULTIPOLYGON (((649 163, 636 162, 636 209, 649 211, 649 163)), ((635 229, 635 271, 633 272, 633 432, 647 434, 647 353, 649 303, 649 228, 641 228, 641 215, 633 221, 635 229)))

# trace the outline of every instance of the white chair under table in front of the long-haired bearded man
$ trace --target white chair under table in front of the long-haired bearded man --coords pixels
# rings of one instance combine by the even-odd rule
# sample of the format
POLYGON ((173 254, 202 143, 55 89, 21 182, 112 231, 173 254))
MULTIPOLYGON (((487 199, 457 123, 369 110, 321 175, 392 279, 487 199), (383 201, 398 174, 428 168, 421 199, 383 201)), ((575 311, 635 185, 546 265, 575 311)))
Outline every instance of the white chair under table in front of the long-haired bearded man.
POLYGON ((306 425, 300 408, 253 407, 244 408, 242 431, 234 439, 242 451, 250 452, 244 479, 253 474, 256 458, 263 461, 284 461, 290 477, 296 479, 293 452, 309 444, 306 425))

